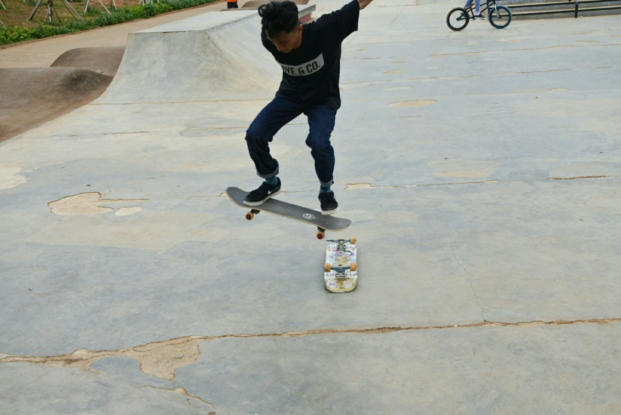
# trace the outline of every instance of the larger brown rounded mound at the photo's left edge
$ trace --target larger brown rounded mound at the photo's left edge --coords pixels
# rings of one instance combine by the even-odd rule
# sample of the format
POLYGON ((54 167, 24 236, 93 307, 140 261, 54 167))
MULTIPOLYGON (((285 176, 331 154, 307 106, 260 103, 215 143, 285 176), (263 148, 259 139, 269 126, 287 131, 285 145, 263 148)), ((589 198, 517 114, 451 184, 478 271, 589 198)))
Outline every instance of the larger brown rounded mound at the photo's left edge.
POLYGON ((93 101, 111 80, 82 68, 0 68, 0 142, 93 101))

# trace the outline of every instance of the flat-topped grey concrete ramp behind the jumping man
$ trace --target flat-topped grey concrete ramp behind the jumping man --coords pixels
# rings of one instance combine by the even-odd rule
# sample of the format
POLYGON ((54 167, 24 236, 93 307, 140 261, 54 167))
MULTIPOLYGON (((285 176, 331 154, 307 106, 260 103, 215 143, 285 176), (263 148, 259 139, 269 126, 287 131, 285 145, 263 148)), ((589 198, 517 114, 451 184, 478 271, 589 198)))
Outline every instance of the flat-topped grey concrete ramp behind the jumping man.
MULTIPOLYGON (((301 6, 306 16, 315 6, 301 6)), ((97 103, 267 99, 281 69, 260 39, 256 11, 207 12, 129 35, 97 103)))

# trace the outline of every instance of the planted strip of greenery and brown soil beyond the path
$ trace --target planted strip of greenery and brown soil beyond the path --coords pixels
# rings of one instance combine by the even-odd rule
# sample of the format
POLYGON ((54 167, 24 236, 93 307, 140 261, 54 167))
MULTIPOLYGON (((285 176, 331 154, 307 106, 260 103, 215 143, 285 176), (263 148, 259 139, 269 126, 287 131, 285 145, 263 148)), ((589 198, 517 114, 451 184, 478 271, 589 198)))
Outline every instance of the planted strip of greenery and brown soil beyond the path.
MULTIPOLYGON (((106 0, 102 0, 106 4, 106 0)), ((24 42, 24 40, 43 39, 45 37, 63 35, 75 32, 81 32, 83 30, 95 29, 96 27, 104 27, 113 24, 119 24, 124 22, 133 21, 136 19, 147 19, 148 17, 157 16, 158 14, 187 9, 189 7, 201 6, 202 4, 209 4, 217 0, 160 0, 159 3, 154 4, 138 4, 135 6, 129 6, 123 4, 123 0, 116 1, 118 10, 111 9, 112 14, 108 14, 104 11, 99 2, 91 0, 89 2, 89 9, 84 13, 84 8, 76 2, 71 2, 71 6, 76 9, 76 12, 84 19, 84 22, 78 21, 71 16, 70 12, 66 9, 61 0, 55 0, 54 6, 58 12, 61 22, 58 22, 58 18, 55 16, 53 23, 40 22, 47 12, 47 1, 43 0, 37 14, 33 18, 33 21, 28 21, 28 17, 34 8, 35 2, 30 6, 29 1, 26 0, 7 0, 3 2, 6 4, 7 10, 2 9, 0 6, 0 19, 7 26, 5 28, 0 27, 0 45, 8 45, 11 43, 24 42), (19 24, 18 24, 19 22, 19 24)), ((107 7, 107 4, 106 4, 107 7)))

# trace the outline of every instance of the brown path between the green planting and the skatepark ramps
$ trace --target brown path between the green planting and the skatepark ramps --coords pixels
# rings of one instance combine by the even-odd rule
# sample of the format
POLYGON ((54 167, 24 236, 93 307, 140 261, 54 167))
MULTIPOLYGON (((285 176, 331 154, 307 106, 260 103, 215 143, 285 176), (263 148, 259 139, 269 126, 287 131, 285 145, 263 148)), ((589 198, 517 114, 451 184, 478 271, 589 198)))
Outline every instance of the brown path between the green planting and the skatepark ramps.
POLYGON ((162 14, 150 19, 8 45, 0 48, 0 68, 44 68, 52 65, 52 62, 67 50, 98 46, 124 46, 127 42, 127 35, 131 32, 186 19, 186 17, 196 16, 204 12, 218 11, 225 7, 224 1, 219 1, 193 9, 162 14))

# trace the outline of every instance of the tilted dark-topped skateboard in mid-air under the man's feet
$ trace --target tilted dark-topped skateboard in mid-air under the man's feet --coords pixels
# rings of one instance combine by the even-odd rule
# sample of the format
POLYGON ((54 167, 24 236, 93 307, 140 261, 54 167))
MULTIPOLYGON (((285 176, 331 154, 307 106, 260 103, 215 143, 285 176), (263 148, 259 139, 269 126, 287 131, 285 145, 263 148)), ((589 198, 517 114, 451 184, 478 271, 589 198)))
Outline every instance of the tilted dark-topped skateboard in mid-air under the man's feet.
POLYGON ((321 212, 314 211, 307 207, 297 206, 277 199, 268 199, 261 206, 247 206, 243 204, 243 199, 248 192, 240 188, 228 188, 227 196, 237 204, 246 207, 250 212, 246 214, 246 219, 252 221, 256 214, 261 211, 270 212, 279 216, 290 217, 296 221, 304 222, 317 227, 317 239, 324 239, 326 230, 345 230, 350 226, 349 219, 342 219, 331 215, 322 215, 321 212))

